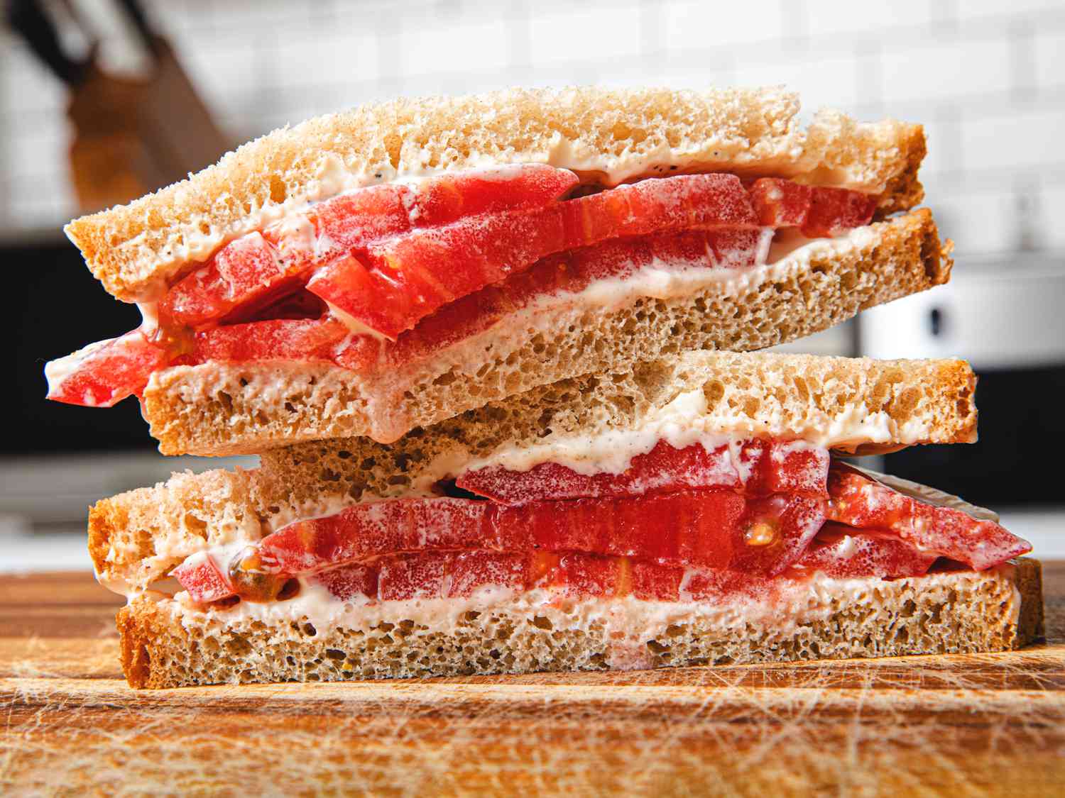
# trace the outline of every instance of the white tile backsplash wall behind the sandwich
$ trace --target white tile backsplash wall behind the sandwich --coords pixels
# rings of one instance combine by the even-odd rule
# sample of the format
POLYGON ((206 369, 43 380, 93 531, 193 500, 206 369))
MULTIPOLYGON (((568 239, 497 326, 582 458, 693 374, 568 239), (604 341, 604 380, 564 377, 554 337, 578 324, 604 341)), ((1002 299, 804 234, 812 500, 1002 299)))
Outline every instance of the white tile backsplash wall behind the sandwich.
MULTIPOLYGON (((831 105, 923 122, 922 180, 958 251, 1011 245, 997 209, 1016 185, 1043 209, 1065 196, 1060 0, 144 3, 234 140, 397 94, 786 83, 805 116, 831 105)), ((75 213, 65 89, 0 36, 0 227, 58 230, 75 213)), ((1065 234, 1048 231, 1047 246, 1062 247, 1065 234)))

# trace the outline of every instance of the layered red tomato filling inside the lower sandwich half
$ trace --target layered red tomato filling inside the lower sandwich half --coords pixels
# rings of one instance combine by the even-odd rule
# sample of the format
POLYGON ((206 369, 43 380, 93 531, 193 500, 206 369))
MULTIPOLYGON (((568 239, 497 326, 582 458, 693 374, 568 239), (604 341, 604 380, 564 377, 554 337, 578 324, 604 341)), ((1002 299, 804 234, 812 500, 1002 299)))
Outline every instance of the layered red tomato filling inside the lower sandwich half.
POLYGON ((814 444, 679 443, 661 437, 613 462, 470 463, 435 495, 204 547, 173 570, 176 598, 220 617, 306 614, 308 603, 333 614, 466 606, 499 592, 545 605, 766 604, 815 579, 984 570, 1031 549, 966 506, 895 489, 814 444))

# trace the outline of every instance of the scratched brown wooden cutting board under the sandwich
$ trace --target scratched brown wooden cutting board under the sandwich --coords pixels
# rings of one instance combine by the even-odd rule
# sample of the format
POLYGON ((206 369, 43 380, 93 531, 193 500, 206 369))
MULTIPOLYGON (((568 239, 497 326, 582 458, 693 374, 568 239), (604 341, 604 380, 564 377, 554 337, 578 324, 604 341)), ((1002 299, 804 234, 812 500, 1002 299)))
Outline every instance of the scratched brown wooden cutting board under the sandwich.
POLYGON ((1065 563, 1002 654, 135 692, 116 597, 0 578, 4 794, 1065 794, 1065 563))

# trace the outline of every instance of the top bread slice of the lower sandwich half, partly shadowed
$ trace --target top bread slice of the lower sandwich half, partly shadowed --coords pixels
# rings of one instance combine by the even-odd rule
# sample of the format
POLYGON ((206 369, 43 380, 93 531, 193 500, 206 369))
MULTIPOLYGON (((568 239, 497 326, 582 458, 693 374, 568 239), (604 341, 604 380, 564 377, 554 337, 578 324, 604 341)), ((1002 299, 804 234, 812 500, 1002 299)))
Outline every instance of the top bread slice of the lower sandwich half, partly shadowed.
POLYGON ((256 470, 175 475, 97 502, 88 517, 89 551, 102 582, 122 593, 144 589, 208 546, 257 541, 364 495, 426 491, 464 464, 505 450, 645 429, 681 396, 697 409, 689 423, 721 433, 850 448, 970 443, 974 388, 964 361, 671 355, 532 388, 393 444, 365 437, 305 443, 264 452, 256 470))

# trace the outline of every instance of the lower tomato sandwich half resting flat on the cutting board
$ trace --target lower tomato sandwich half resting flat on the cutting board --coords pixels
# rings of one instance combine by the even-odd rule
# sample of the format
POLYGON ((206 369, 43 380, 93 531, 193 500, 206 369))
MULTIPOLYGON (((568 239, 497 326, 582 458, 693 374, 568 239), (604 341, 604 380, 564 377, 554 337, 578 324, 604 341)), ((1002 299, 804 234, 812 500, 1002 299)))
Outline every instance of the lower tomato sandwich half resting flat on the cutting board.
POLYGON ((997 517, 841 454, 976 438, 962 361, 663 355, 97 503, 135 687, 999 651, 997 517))

